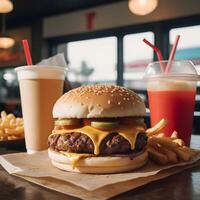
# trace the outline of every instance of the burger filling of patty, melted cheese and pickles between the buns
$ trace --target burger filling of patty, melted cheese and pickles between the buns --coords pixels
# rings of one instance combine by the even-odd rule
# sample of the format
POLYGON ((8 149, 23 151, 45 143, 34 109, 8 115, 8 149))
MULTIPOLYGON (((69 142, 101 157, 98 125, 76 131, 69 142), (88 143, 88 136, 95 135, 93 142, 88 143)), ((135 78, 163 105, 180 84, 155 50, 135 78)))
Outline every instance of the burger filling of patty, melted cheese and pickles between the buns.
POLYGON ((50 148, 59 152, 121 155, 141 152, 147 143, 142 118, 59 119, 49 136, 50 148))

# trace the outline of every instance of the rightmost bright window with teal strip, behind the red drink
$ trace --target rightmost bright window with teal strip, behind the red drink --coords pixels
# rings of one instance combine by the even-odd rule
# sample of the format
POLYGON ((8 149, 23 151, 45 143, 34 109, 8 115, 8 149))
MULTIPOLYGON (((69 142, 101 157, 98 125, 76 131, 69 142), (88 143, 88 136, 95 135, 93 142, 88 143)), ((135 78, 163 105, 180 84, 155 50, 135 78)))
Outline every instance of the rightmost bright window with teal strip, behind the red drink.
POLYGON ((170 47, 172 47, 176 35, 180 35, 175 59, 192 60, 200 74, 200 26, 187 26, 170 30, 170 47))

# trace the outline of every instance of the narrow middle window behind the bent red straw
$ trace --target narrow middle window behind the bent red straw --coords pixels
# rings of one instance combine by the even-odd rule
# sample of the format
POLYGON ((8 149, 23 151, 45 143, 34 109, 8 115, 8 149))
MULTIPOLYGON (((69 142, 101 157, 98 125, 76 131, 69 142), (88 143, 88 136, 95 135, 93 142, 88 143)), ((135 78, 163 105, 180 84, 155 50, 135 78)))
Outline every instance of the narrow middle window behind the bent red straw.
POLYGON ((129 34, 124 37, 124 85, 129 88, 143 89, 141 79, 145 67, 153 61, 153 50, 142 40, 146 38, 154 43, 154 33, 129 34))

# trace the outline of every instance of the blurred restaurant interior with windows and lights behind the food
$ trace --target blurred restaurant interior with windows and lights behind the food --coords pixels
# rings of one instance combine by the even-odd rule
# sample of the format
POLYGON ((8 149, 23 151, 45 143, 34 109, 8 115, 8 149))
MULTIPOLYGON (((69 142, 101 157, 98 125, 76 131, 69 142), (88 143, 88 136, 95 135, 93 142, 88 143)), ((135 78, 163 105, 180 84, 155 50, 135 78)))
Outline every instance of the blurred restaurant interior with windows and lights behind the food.
MULTIPOLYGON (((82 84, 117 84, 138 92, 147 107, 142 77, 148 63, 157 57, 142 42, 143 38, 159 47, 164 59, 168 59, 179 34, 175 59, 192 60, 200 73, 200 1, 160 0, 153 5, 152 0, 148 1, 152 10, 143 9, 142 13, 134 10, 127 0, 12 2, 11 11, 1 13, 0 110, 21 116, 14 68, 26 64, 22 39, 29 40, 34 64, 64 53, 69 68, 65 91, 82 84), (2 41, 6 36, 12 40, 9 45, 2 41)), ((200 85, 194 116, 193 133, 197 134, 200 133, 200 85)))

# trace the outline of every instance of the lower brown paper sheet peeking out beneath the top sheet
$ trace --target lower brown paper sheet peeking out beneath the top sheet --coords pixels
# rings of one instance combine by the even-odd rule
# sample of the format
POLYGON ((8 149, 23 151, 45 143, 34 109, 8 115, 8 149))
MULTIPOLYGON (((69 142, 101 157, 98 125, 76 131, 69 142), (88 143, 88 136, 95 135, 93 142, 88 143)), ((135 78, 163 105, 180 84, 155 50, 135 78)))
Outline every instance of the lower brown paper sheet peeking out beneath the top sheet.
POLYGON ((167 170, 163 170, 153 176, 137 178, 130 181, 125 181, 125 182, 115 183, 113 185, 104 186, 94 191, 88 191, 76 185, 70 184, 68 182, 52 179, 50 177, 47 177, 47 178, 21 177, 21 178, 27 181, 30 181, 32 183, 35 183, 37 185, 46 187, 48 189, 55 190, 57 192, 61 192, 63 194, 71 195, 74 197, 79 197, 84 200, 105 200, 105 199, 114 197, 118 194, 124 193, 126 191, 138 188, 142 185, 148 184, 152 181, 163 179, 170 175, 181 172, 185 169, 195 167, 197 165, 200 165, 200 161, 192 165, 185 165, 182 167, 174 167, 167 170))

